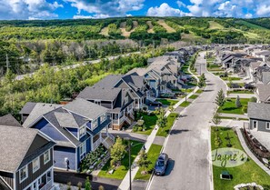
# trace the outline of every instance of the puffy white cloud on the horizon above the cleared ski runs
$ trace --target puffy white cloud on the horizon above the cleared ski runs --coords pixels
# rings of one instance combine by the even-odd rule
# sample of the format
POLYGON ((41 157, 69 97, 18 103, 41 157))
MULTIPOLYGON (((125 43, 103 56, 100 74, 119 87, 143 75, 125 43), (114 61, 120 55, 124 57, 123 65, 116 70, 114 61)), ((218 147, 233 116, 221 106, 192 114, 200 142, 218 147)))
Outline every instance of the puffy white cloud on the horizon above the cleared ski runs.
POLYGON ((153 15, 153 16, 183 16, 187 15, 186 13, 182 12, 181 10, 177 8, 173 8, 166 3, 163 3, 162 5, 150 7, 147 11, 147 15, 153 15))

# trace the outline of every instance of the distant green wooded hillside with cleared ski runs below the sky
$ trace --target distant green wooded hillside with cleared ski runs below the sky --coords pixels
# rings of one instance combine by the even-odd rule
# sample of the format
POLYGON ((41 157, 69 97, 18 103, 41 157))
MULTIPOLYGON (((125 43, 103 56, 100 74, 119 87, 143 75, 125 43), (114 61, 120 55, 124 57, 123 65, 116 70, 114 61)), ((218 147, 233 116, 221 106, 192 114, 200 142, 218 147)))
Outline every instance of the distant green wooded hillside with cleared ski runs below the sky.
POLYGON ((0 40, 140 40, 148 45, 162 38, 180 40, 194 34, 194 39, 208 43, 270 42, 270 18, 200 18, 200 17, 123 17, 107 19, 0 21, 0 40))

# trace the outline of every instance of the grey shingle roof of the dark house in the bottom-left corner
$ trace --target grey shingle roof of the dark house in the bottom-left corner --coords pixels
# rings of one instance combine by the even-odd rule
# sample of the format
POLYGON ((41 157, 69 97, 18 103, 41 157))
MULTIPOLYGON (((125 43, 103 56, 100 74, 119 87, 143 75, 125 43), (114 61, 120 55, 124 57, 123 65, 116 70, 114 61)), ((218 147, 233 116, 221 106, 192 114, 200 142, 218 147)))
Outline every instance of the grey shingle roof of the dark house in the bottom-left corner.
POLYGON ((15 173, 24 166, 23 164, 27 164, 35 158, 33 156, 35 152, 45 151, 55 145, 45 139, 47 144, 40 146, 38 142, 35 142, 36 136, 45 139, 36 129, 0 125, 0 171, 15 173), (34 144, 36 144, 35 148, 28 153, 34 144))

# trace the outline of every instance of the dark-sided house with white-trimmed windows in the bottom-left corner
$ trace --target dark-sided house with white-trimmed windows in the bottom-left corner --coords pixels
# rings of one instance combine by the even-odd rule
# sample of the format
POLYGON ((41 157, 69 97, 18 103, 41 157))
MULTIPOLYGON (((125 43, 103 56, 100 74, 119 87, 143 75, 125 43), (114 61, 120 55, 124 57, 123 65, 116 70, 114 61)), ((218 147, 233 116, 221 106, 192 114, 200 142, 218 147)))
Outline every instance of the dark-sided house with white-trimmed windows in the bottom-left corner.
POLYGON ((38 130, 0 125, 0 189, 52 189, 54 145, 38 130))

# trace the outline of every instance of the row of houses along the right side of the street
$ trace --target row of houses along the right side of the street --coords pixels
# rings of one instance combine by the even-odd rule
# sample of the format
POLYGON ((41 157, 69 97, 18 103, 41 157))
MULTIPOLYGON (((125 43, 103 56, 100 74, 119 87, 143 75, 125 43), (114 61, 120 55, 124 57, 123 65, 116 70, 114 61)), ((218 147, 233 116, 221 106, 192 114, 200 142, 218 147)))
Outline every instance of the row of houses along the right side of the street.
POLYGON ((248 128, 270 133, 270 46, 215 47, 215 54, 217 63, 254 86, 257 102, 248 104, 248 128))

